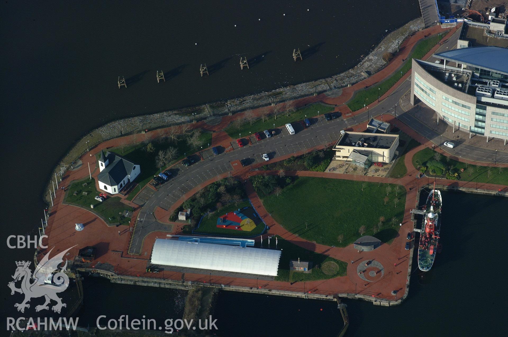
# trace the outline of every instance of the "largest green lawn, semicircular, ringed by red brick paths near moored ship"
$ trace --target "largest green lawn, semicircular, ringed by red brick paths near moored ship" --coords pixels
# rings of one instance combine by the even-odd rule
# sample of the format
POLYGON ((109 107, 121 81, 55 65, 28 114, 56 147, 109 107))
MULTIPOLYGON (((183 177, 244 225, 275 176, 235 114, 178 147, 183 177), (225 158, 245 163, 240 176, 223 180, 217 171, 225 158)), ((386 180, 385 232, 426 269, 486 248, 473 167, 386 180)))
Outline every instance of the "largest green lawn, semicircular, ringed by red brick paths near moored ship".
POLYGON ((308 241, 345 247, 361 236, 359 229, 365 226, 363 235, 389 242, 397 235, 404 216, 406 191, 399 186, 396 192, 396 186, 390 184, 385 205, 388 187, 385 183, 299 177, 278 197, 265 196, 263 204, 285 229, 308 241), (396 207, 395 198, 399 199, 396 207), (378 228, 382 216, 386 220, 378 228))

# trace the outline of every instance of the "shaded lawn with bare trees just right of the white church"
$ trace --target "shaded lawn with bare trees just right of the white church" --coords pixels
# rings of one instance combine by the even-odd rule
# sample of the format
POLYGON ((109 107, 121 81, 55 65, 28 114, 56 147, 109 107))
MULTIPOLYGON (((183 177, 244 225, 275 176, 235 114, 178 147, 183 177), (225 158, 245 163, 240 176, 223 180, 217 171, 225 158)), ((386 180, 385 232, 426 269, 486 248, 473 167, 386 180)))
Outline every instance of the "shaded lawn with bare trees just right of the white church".
MULTIPOLYGON (((206 148, 208 147, 208 144, 211 144, 212 142, 212 134, 210 132, 204 132, 201 134, 200 140, 203 144, 203 148, 206 148)), ((178 149, 178 157, 170 165, 173 165, 174 163, 183 159, 185 156, 192 155, 197 151, 197 149, 192 148, 192 146, 187 144, 185 138, 178 139, 177 141, 152 141, 152 145, 154 147, 154 151, 152 152, 146 151, 146 144, 131 144, 125 145, 123 148, 119 146, 108 149, 110 152, 115 152, 116 154, 139 164, 141 167, 141 173, 135 179, 135 182, 138 183, 138 186, 133 191, 131 191, 131 193, 129 193, 127 200, 134 199, 136 193, 138 193, 148 182, 150 182, 155 174, 160 173, 160 169, 158 169, 155 164, 155 156, 157 155, 158 151, 166 150, 170 146, 178 149)), ((163 171, 165 169, 166 167, 162 168, 163 171)))

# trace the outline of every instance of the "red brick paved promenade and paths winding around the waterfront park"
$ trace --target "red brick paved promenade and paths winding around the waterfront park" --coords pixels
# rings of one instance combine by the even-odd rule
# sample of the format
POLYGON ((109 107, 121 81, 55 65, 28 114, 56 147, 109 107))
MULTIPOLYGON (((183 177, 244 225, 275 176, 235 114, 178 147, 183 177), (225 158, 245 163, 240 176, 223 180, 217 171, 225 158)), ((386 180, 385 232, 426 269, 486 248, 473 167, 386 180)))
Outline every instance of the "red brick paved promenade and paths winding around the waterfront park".
MULTIPOLYGON (((368 79, 353 85, 352 87, 344 88, 342 91, 342 95, 337 98, 329 98, 325 95, 319 95, 316 97, 308 97, 297 100, 296 106, 300 107, 305 104, 314 103, 314 102, 324 102, 328 104, 336 105, 335 111, 347 112, 347 107, 344 103, 349 100, 354 91, 358 89, 362 89, 366 85, 371 85, 376 82, 382 81, 384 78, 388 77, 391 73, 396 71, 402 65, 402 59, 407 58, 410 50, 418 40, 424 37, 424 35, 437 34, 440 33, 442 29, 438 26, 434 26, 432 28, 422 30, 421 32, 416 33, 414 36, 405 41, 401 46, 401 52, 392 60, 392 62, 384 68, 379 73, 374 74, 368 79)), ((453 33, 453 32, 452 32, 453 33)), ((409 73, 404 76, 401 81, 409 76, 409 73)), ((398 83, 397 85, 399 85, 398 83)), ((396 85, 396 86, 397 86, 396 85)), ((385 96, 388 96, 392 90, 395 89, 394 86, 385 96)), ((384 96, 384 97, 385 97, 384 96)), ((259 109, 255 112, 259 112, 259 109)), ((239 115, 239 114, 238 114, 239 115)), ((212 137, 213 146, 216 145, 224 145, 226 148, 229 146, 229 142, 231 138, 221 130, 224 130, 226 126, 230 124, 230 122, 238 118, 238 115, 234 116, 226 116, 223 117, 220 124, 215 126, 210 126, 205 124, 205 122, 198 122, 193 124, 193 128, 202 128, 209 131, 214 131, 212 137)), ((411 159, 413 155, 421 150, 424 146, 431 146, 431 143, 417 134, 415 131, 411 130, 404 124, 402 124, 399 120, 389 120, 397 127, 402 129, 405 133, 409 134, 411 137, 414 137, 418 141, 420 141, 423 145, 420 145, 412 150, 410 150, 405 156, 405 164, 408 169, 408 173, 400 178, 400 179, 392 179, 391 183, 397 183, 404 186, 407 190, 406 194, 406 203, 405 203, 405 216, 403 219, 402 226, 399 231, 399 236, 397 236, 391 244, 382 244, 379 248, 372 252, 361 252, 358 253, 352 245, 345 248, 337 248, 337 247, 328 247, 323 246, 321 244, 315 244, 309 241, 306 241, 300 237, 293 235, 292 233, 285 230, 280 224, 276 223, 266 212, 262 202, 255 192, 253 192, 248 179, 246 179, 251 174, 259 174, 259 173, 267 173, 267 174, 278 174, 278 172, 259 172, 259 171, 248 171, 247 168, 239 169, 232 172, 232 175, 247 180, 245 185, 247 194, 252 204, 258 211, 259 215, 263 218, 265 223, 270 227, 269 234, 277 234, 281 237, 290 240, 291 242, 298 244, 301 247, 306 249, 315 251, 317 253, 322 253, 328 256, 332 256, 336 259, 348 262, 347 267, 347 275, 345 277, 335 278, 331 280, 324 281, 314 281, 314 282, 306 282, 305 286, 303 283, 296 283, 291 285, 288 282, 275 282, 275 281, 259 281, 251 280, 251 279, 236 279, 236 278, 225 278, 218 276, 211 276, 211 282, 216 284, 224 284, 224 285, 235 285, 235 286, 244 286, 244 287, 261 287, 263 289, 274 289, 274 290, 289 290, 296 292, 303 292, 304 287, 306 292, 318 293, 318 294, 326 294, 333 295, 337 293, 350 293, 354 294, 355 289, 358 294, 364 294, 368 296, 375 296, 377 298, 385 298, 385 299, 395 299, 395 296, 391 294, 393 290, 398 291, 398 298, 402 294, 404 294, 406 290, 406 282, 408 278, 408 263, 409 263, 409 252, 404 250, 404 242, 405 233, 412 230, 412 222, 410 221, 410 213, 409 210, 414 208, 416 205, 417 192, 419 187, 428 183, 427 179, 417 179, 417 170, 412 167, 411 159), (375 282, 367 283, 365 286, 365 281, 360 279, 357 274, 356 268, 358 263, 364 260, 375 259, 376 261, 383 264, 385 270, 383 277, 377 277, 375 282), (355 263, 351 264, 350 261, 355 261, 355 263), (396 265, 395 265, 396 264, 396 265)), ((354 127, 355 130, 363 130, 365 129, 365 125, 360 125, 354 127)), ((164 135, 165 130, 156 130, 153 132, 148 132, 144 135, 138 135, 137 141, 154 139, 157 137, 161 137, 164 135)), ((98 170, 94 169, 96 167, 96 158, 95 154, 100 151, 101 148, 109 148, 118 146, 122 143, 132 143, 134 141, 133 136, 126 136, 120 139, 113 139, 104 142, 97 148, 92 149, 86 155, 84 155, 82 160, 82 166, 75 171, 68 171, 65 176, 63 176, 63 180, 59 183, 59 187, 65 186, 68 187, 71 185, 73 180, 83 179, 88 176, 88 164, 90 164, 90 168, 92 171, 92 177, 96 177, 98 175, 98 170)), ((321 146, 322 147, 322 146, 321 146)), ((310 150, 310 149, 308 149, 310 150)), ((443 155, 449 156, 446 152, 442 152, 443 155)), ((298 154, 297 154, 298 155, 298 154)), ((283 160, 287 157, 277 158, 277 160, 283 160)), ((482 165, 481 163, 475 163, 482 165)), ((258 164, 262 165, 262 164, 258 164)), ((359 175, 344 175, 337 173, 323 173, 323 172, 307 172, 307 171, 296 171, 296 172, 286 172, 287 175, 298 175, 298 176, 316 176, 316 177, 326 177, 326 178, 334 178, 334 179, 350 179, 350 180, 361 180, 361 181, 383 181, 387 182, 386 178, 380 177, 370 177, 370 176, 359 176, 359 175)), ((227 176, 223 174, 222 177, 227 176)), ((206 181, 202 185, 196 187, 195 189, 186 193, 179 201, 183 201, 185 198, 193 195, 199 189, 208 185, 209 183, 216 180, 217 177, 206 181)), ((491 184, 475 184, 470 182, 463 181, 448 181, 448 180, 438 180, 438 183, 443 183, 444 185, 448 185, 453 183, 455 186, 475 186, 480 189, 489 189, 489 190, 498 190, 498 189, 506 189, 505 186, 497 186, 491 184)), ((92 263, 92 267, 97 263, 108 263, 114 267, 114 271, 118 274, 122 275, 134 275, 140 277, 149 277, 149 278, 160 278, 160 279, 170 279, 170 280, 181 280, 182 275, 178 272, 171 271, 163 271, 158 274, 146 273, 145 268, 147 265, 147 260, 150 257, 152 244, 156 237, 166 237, 167 232, 152 232, 148 234, 143 240, 143 249, 142 253, 139 256, 129 256, 126 255, 125 252, 128 251, 128 245, 131 238, 130 228, 126 226, 108 227, 101 219, 95 216, 92 212, 72 205, 62 204, 64 198, 64 192, 60 189, 57 190, 56 198, 54 200, 54 207, 51 207, 50 218, 48 220, 48 227, 46 229, 46 234, 49 236, 44 243, 49 247, 49 249, 55 247, 53 253, 58 251, 65 250, 69 247, 75 246, 72 250, 69 251, 68 259, 72 259, 75 255, 78 254, 78 250, 85 246, 94 246, 97 248, 97 255, 95 261, 92 263), (74 228, 75 223, 83 223, 85 225, 85 229, 82 232, 77 232, 74 228), (118 230, 121 230, 120 235, 118 234, 118 230), (123 253, 122 253, 123 252, 123 253)), ((132 203, 126 202, 130 205, 132 203)), ((163 219, 178 206, 178 203, 175 203, 173 207, 165 211, 160 207, 156 207, 154 210, 155 217, 157 219, 163 219)), ((139 208, 136 209, 133 219, 136 219, 139 208)), ((134 222, 134 220, 133 220, 134 222)), ((134 224, 131 223, 131 227, 134 224)), ((174 223, 174 232, 177 233, 180 231, 180 228, 174 223)), ((49 250, 48 249, 48 250, 49 250)), ((48 250, 43 251, 46 253, 48 250)), ((41 256, 40 256, 41 257, 41 256)), ((210 275, 202 275, 202 274, 189 274, 185 273, 185 281, 198 281, 208 283, 210 281, 210 275)))

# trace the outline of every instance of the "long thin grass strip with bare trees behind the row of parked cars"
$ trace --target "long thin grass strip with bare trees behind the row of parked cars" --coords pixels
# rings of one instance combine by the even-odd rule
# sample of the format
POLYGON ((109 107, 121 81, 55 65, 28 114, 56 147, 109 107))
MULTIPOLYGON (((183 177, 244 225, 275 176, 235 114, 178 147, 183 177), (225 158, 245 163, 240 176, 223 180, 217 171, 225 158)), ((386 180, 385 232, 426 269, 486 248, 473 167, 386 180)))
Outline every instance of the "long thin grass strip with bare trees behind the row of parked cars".
POLYGON ((242 134, 242 137, 246 137, 255 132, 261 132, 268 129, 273 129, 273 125, 276 127, 285 125, 287 123, 291 123, 297 120, 305 119, 305 116, 314 117, 317 115, 322 115, 324 113, 332 111, 334 108, 331 106, 326 106, 323 104, 312 104, 303 109, 297 110, 293 112, 291 115, 286 116, 284 112, 279 112, 277 114, 277 119, 274 119, 273 116, 269 118, 265 118, 265 121, 260 118, 250 125, 249 122, 245 122, 240 125, 240 128, 235 127, 233 124, 227 127, 224 131, 228 133, 228 135, 237 139, 239 134, 242 134))

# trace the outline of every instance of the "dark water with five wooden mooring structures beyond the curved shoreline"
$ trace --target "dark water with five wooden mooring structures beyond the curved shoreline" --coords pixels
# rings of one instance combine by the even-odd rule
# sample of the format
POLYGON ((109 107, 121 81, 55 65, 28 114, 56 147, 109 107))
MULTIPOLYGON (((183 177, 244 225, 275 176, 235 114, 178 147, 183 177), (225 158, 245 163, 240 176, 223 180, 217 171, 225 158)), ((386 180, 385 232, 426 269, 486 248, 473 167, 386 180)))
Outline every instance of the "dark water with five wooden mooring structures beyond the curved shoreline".
MULTIPOLYGON (((2 2, 0 240, 37 233, 48 175, 91 129, 339 73, 419 14, 417 0, 2 2), (293 62, 293 48, 304 62, 293 62), (249 70, 240 71, 240 55, 249 70), (156 70, 166 83, 157 85, 156 70)), ((0 284, 33 252, 2 246, 0 284)), ((0 307, 12 312, 8 290, 0 286, 0 307)))

